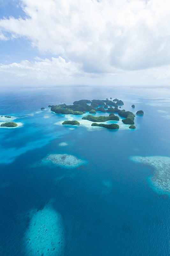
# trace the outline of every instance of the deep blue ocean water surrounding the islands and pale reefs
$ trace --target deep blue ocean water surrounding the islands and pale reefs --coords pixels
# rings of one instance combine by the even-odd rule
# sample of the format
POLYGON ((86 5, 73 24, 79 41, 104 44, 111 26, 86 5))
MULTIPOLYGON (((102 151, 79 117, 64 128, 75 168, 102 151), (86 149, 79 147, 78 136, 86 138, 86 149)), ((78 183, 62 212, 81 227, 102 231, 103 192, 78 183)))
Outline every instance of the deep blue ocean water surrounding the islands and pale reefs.
POLYGON ((38 255, 26 250, 24 237, 32 209, 48 204, 62 216, 63 256, 170 255, 170 197, 148 183, 150 166, 129 160, 170 157, 169 96, 169 89, 159 88, 1 90, 0 115, 16 116, 14 122, 23 126, 0 128, 0 255, 38 255), (48 108, 110 97, 123 100, 122 109, 132 111, 135 104, 134 111, 144 111, 135 117, 136 130, 70 130, 56 125, 63 115, 48 108), (74 155, 86 163, 72 169, 36 165, 48 154, 74 155))

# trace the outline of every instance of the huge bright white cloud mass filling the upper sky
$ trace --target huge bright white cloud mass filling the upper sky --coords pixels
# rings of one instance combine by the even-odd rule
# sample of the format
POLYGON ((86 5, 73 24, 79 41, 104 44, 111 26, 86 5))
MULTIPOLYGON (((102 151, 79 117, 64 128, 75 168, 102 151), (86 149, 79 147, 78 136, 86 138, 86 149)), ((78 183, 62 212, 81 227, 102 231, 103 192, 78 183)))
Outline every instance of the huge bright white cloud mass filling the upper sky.
MULTIPOLYGON (((73 63, 77 71, 70 68, 70 73, 116 74, 170 65, 169 0, 22 0, 21 6, 25 18, 0 20, 0 40, 26 37, 39 52, 73 63)), ((35 70, 37 63, 32 63, 35 70)))

